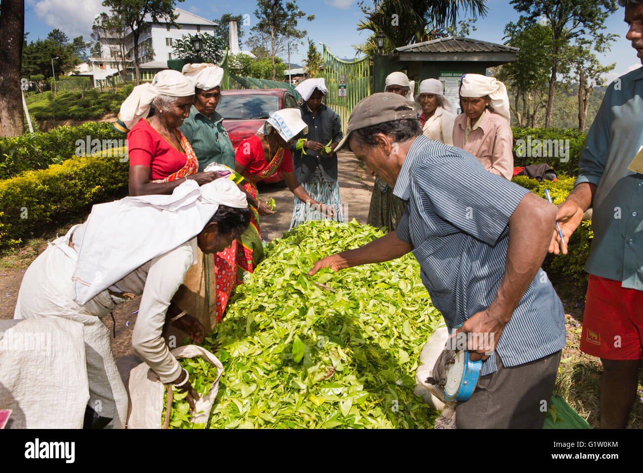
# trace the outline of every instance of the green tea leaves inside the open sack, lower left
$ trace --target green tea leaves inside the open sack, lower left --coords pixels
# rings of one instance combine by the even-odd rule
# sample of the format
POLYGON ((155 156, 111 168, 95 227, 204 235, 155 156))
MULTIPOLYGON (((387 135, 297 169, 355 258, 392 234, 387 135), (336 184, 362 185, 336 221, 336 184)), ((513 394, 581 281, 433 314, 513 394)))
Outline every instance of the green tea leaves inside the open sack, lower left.
MULTIPOLYGON (((194 358, 180 358, 179 364, 188 372, 188 379, 190 384, 194 387, 195 391, 199 394, 199 398, 205 396, 210 392, 213 382, 217 380, 217 367, 207 362, 201 357, 194 358)), ((167 389, 165 385, 165 394, 163 394, 163 414, 161 420, 165 420, 165 411, 167 409, 167 389)), ((190 404, 185 400, 188 393, 181 393, 174 386, 172 386, 172 413, 170 417, 170 429, 205 429, 204 423, 190 422, 190 404)))

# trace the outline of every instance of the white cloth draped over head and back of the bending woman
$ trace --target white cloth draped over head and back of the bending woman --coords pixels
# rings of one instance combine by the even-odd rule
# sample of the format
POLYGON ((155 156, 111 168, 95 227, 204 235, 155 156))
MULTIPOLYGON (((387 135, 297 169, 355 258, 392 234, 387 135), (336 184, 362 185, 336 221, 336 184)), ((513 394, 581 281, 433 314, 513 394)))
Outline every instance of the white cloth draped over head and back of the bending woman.
POLYGON ((243 209, 248 201, 233 181, 221 178, 201 187, 186 180, 171 195, 94 205, 71 278, 74 301, 85 304, 150 259, 194 238, 219 205, 243 209))

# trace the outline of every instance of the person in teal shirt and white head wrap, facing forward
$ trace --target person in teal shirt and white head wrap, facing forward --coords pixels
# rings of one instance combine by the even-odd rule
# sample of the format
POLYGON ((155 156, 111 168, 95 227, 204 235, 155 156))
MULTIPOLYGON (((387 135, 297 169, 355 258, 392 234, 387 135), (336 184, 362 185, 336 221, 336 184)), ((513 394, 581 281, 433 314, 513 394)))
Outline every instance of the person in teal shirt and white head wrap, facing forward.
POLYGON ((221 163, 235 169, 235 150, 223 127, 223 117, 216 111, 221 100, 223 74, 220 68, 217 70, 221 70, 221 74, 214 69, 210 67, 195 75, 194 105, 190 116, 179 127, 197 155, 199 172, 210 163, 221 163))

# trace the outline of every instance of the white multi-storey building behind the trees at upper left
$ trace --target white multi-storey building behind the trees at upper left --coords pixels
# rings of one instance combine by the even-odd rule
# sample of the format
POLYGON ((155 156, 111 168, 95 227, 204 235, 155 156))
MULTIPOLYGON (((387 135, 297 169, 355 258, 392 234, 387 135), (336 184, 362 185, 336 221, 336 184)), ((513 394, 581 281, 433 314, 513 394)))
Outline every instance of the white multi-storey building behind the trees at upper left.
MULTIPOLYGON (((177 39, 184 35, 197 33, 214 34, 217 23, 206 20, 199 15, 186 12, 181 8, 174 8, 174 14, 179 15, 175 22, 181 26, 177 28, 170 23, 154 23, 152 17, 145 17, 145 25, 141 27, 138 37, 139 79, 152 80, 154 75, 167 69, 167 61, 177 59, 174 57, 173 46, 177 39)), ((82 66, 77 75, 91 76, 93 86, 106 85, 109 77, 118 77, 118 58, 120 58, 120 39, 116 33, 98 35, 96 41, 101 44, 102 57, 90 57, 82 66)), ((125 36, 125 62, 127 63, 127 79, 134 79, 134 41, 132 32, 125 36)))

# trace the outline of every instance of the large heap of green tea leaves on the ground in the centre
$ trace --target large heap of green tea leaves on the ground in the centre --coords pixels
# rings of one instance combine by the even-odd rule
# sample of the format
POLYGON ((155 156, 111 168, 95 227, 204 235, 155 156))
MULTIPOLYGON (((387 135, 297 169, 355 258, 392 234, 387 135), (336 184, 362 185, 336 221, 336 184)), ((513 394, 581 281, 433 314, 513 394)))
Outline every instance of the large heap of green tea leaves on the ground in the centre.
POLYGON ((382 235, 355 220, 307 222, 267 246, 204 343, 224 366, 210 427, 433 426, 413 387, 440 313, 413 255, 307 275, 382 235))

